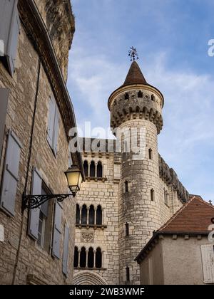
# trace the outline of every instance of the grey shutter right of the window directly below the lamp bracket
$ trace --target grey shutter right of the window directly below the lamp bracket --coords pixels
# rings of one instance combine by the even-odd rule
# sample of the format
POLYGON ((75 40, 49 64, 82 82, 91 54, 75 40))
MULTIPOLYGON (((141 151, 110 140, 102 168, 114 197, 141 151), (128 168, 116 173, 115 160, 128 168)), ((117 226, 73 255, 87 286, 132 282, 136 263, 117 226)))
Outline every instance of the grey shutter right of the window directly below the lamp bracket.
POLYGON ((58 202, 55 204, 54 216, 54 236, 53 236, 53 250, 52 255, 60 258, 60 241, 61 241, 61 212, 62 208, 58 202))

